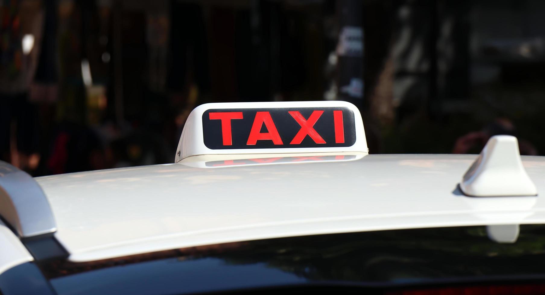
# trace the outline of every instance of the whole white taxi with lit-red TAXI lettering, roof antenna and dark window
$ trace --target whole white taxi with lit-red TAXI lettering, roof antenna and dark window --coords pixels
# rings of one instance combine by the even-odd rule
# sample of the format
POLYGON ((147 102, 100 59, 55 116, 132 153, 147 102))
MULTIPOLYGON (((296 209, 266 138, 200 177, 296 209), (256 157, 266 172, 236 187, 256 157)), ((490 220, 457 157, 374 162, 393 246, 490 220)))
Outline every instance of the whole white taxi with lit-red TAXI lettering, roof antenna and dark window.
POLYGON ((368 155, 347 102, 210 103, 172 164, 0 164, 0 293, 545 293, 545 158, 368 155))

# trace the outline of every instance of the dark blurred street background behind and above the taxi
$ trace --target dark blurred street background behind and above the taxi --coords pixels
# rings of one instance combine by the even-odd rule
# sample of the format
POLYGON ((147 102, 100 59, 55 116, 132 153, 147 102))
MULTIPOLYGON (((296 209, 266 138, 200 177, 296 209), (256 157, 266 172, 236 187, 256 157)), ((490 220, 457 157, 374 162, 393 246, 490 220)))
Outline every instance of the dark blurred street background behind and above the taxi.
POLYGON ((171 163, 206 102, 346 100, 370 153, 545 152, 545 1, 0 0, 0 159, 171 163))

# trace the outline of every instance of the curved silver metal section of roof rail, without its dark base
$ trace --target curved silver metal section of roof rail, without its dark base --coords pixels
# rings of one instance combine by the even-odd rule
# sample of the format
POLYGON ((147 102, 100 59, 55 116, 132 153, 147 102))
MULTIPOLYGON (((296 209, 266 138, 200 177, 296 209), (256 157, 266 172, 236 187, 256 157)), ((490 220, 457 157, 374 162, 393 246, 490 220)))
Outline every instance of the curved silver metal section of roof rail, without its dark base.
POLYGON ((19 238, 57 231, 46 195, 32 176, 0 161, 0 216, 19 238))

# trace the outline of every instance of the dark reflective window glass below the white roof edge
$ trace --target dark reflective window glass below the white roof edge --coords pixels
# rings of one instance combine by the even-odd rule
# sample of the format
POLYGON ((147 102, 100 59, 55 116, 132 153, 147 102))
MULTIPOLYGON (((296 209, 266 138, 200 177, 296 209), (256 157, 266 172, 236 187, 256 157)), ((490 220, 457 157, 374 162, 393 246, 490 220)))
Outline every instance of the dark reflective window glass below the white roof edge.
POLYGON ((333 284, 380 288, 545 278, 545 226, 514 243, 486 226, 266 239, 44 269, 59 294, 171 294, 333 284))

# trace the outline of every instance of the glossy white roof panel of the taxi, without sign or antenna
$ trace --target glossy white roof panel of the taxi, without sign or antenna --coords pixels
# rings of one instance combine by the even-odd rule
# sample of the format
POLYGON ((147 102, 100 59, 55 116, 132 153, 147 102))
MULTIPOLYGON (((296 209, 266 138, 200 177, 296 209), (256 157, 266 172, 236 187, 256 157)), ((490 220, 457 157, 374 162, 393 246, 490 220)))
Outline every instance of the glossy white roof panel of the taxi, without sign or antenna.
MULTIPOLYGON (((71 261, 325 233, 545 223, 535 196, 458 189, 476 155, 193 168, 174 163, 37 177, 71 261)), ((545 191, 545 157, 522 157, 545 191)))

